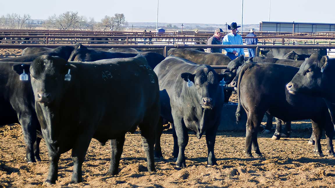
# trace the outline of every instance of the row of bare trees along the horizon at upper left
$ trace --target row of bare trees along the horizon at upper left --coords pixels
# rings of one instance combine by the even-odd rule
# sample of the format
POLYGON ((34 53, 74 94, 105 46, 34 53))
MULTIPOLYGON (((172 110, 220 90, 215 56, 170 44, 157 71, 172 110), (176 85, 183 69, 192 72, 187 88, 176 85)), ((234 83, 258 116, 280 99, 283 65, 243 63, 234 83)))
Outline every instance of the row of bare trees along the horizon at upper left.
POLYGON ((49 16, 44 21, 34 21, 29 14, 23 16, 12 13, 0 17, 0 28, 2 29, 34 29, 42 26, 45 29, 59 30, 100 30, 120 31, 127 27, 128 23, 124 14, 116 13, 114 16, 106 15, 100 22, 94 18, 79 16, 78 12, 67 11, 60 15, 49 16))

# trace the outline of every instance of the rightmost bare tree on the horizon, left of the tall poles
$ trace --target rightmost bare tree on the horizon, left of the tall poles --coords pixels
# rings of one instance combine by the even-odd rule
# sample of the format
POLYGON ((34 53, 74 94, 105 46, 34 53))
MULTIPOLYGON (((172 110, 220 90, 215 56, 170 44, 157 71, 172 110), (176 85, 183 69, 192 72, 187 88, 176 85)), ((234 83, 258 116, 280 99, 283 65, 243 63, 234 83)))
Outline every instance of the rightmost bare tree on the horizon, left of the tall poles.
POLYGON ((116 13, 113 17, 106 15, 101 20, 101 24, 104 27, 103 30, 109 28, 109 30, 111 31, 118 31, 123 29, 128 23, 126 21, 124 14, 116 13))

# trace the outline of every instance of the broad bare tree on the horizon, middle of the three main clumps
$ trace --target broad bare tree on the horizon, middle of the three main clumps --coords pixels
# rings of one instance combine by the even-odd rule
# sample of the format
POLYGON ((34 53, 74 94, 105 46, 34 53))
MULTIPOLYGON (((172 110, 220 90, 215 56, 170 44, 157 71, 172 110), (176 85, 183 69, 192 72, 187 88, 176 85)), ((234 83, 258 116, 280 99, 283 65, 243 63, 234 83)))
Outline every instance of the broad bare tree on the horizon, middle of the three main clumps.
POLYGON ((47 24, 60 30, 74 29, 79 21, 78 12, 67 11, 63 14, 56 16, 49 16, 47 24))

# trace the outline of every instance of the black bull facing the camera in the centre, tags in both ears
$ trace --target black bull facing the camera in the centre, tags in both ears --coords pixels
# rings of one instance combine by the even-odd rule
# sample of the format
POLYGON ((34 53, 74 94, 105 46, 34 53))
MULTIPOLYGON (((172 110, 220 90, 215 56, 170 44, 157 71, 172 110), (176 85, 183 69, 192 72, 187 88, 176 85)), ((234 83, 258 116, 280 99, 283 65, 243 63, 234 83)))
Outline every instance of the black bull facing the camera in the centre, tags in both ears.
MULTIPOLYGON (((186 167, 187 129, 195 131, 199 139, 206 135, 207 164, 215 165, 215 135, 223 104, 219 82, 230 74, 218 75, 208 65, 197 65, 176 57, 166 58, 154 71, 159 80, 161 116, 173 123, 173 156, 178 157, 176 165, 186 167)), ((161 156, 161 152, 156 153, 161 156)))

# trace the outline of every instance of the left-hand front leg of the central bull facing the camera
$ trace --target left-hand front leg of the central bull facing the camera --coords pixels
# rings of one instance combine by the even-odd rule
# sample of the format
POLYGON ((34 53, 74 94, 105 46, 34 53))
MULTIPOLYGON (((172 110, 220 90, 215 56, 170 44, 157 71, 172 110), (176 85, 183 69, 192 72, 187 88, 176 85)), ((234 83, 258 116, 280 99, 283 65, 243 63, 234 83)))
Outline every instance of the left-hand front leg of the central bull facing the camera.
POLYGON ((187 128, 184 124, 184 120, 182 118, 174 118, 174 127, 175 131, 177 134, 177 140, 178 140, 178 147, 179 147, 179 153, 178 153, 178 158, 176 161, 176 166, 180 168, 185 168, 186 167, 186 157, 185 157, 185 148, 188 144, 188 133, 187 133, 187 128))

